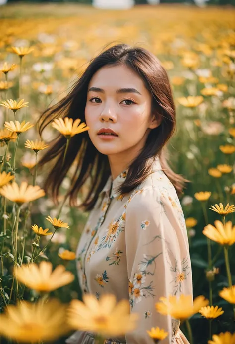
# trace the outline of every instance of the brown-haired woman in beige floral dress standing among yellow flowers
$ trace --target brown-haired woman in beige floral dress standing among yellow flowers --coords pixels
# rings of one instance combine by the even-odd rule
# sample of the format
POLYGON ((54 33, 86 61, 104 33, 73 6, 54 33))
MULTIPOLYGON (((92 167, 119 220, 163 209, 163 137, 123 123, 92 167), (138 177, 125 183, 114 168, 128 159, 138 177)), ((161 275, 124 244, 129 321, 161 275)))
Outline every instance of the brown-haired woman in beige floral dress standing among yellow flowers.
MULTIPOLYGON (((184 215, 178 195, 185 180, 167 165, 163 148, 176 120, 169 79, 149 51, 126 44, 94 58, 71 92, 41 118, 40 132, 55 117, 80 118, 90 128, 71 139, 63 168, 65 138, 59 137, 41 165, 58 157, 45 183, 57 200, 59 186, 77 154, 70 205, 86 180, 81 206, 92 210, 77 247, 83 293, 115 294, 139 314, 137 328, 106 344, 153 344, 146 332, 168 331, 163 344, 185 344, 179 320, 157 313, 159 297, 192 295, 184 215)), ((118 320, 117 320, 118 321, 118 320)), ((77 331, 66 343, 93 344, 77 331)))

